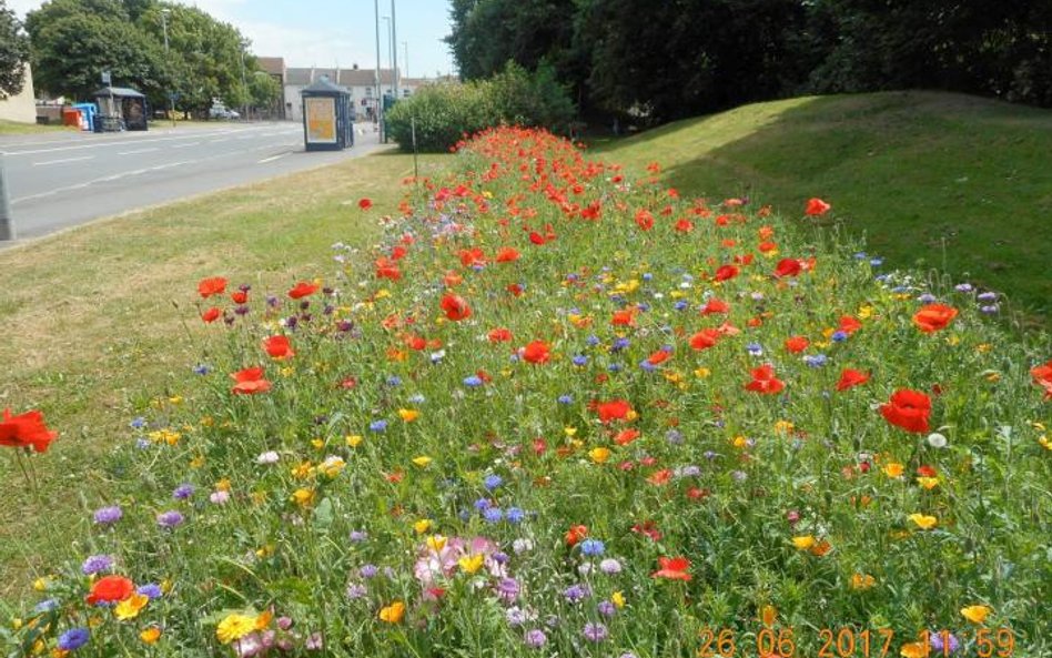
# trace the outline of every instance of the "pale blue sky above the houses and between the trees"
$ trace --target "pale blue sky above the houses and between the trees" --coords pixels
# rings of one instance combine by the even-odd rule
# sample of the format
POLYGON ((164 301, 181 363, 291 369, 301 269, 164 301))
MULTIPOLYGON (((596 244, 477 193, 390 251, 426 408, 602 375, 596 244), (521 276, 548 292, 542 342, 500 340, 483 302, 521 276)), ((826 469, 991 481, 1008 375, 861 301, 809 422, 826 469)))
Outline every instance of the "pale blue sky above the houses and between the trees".
MULTIPOLYGON (((42 0, 6 0, 20 18, 42 0)), ((175 0, 231 23, 259 57, 283 57, 286 67, 376 67, 376 0, 175 0)), ((449 33, 446 0, 378 0, 381 17, 395 9, 398 68, 407 78, 454 72, 442 39, 449 33), (408 49, 408 67, 405 55, 408 49)), ((381 65, 391 65, 388 21, 380 20, 381 65)))

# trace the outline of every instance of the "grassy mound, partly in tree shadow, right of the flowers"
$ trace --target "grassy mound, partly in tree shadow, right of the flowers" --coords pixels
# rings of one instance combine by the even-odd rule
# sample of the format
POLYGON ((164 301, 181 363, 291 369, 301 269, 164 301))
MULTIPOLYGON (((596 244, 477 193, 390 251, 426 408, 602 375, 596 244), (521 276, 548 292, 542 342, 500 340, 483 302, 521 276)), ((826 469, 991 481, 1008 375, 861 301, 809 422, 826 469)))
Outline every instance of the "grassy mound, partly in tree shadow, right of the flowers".
POLYGON ((829 199, 888 266, 944 270, 1049 326, 1052 112, 960 94, 801 98, 596 143, 688 194, 829 199))

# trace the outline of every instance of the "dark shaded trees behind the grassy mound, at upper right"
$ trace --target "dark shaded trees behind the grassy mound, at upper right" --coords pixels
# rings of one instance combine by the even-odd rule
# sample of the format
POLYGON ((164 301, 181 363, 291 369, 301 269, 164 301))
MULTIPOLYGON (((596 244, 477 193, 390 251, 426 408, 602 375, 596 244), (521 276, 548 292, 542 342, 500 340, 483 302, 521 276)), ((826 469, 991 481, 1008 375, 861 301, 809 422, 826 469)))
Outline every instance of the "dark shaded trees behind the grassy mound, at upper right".
POLYGON ((552 65, 585 113, 900 88, 1052 107, 1048 0, 452 0, 451 22, 462 77, 552 65))

